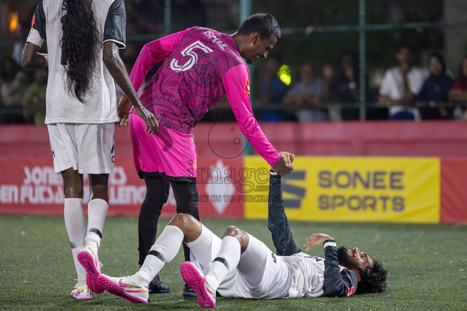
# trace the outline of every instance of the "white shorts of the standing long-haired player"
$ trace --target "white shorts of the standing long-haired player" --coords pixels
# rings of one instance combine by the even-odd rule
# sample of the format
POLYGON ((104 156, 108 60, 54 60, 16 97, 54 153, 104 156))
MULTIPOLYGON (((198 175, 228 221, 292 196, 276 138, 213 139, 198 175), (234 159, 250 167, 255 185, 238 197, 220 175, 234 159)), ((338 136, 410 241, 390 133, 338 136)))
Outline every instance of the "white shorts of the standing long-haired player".
POLYGON ((70 167, 80 174, 113 173, 115 124, 47 124, 55 173, 70 167))

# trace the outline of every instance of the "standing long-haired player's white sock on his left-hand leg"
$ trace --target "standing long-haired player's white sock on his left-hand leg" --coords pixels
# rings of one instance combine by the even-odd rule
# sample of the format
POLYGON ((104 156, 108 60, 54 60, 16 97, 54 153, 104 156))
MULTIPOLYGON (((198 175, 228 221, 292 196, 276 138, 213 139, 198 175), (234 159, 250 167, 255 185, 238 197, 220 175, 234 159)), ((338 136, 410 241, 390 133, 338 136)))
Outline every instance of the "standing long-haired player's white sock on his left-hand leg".
POLYGON ((71 253, 78 273, 78 283, 86 282, 86 270, 78 262, 78 252, 85 243, 86 224, 83 212, 83 200, 78 198, 65 199, 65 227, 71 244, 71 253))

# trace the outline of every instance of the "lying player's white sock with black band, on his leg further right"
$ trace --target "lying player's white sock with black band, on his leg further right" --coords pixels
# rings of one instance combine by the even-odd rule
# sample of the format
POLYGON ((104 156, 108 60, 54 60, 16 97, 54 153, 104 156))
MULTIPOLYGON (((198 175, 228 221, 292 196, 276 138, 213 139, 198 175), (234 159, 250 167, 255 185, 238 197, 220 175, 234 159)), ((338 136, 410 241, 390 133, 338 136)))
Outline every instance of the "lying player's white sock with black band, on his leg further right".
POLYGON ((233 236, 224 237, 220 243, 219 253, 206 274, 214 290, 217 290, 229 271, 237 268, 239 262, 240 242, 233 236))

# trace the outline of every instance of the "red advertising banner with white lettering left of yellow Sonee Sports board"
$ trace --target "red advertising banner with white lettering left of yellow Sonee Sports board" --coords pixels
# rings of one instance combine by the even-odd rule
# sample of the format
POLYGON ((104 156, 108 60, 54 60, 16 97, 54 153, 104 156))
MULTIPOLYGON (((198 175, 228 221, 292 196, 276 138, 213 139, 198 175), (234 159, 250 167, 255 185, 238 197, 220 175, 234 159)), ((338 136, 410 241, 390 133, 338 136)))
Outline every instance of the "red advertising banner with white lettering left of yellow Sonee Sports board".
MULTIPOLYGON (((241 157, 198 158, 200 217, 243 218, 243 203, 233 200, 240 194, 241 157)), ((64 209, 62 177, 54 172, 51 157, 0 157, 0 214, 60 215, 64 209)), ((85 175, 84 205, 89 201, 89 180, 85 175)), ((115 161, 109 175, 108 215, 138 215, 146 194, 144 181, 135 169, 132 157, 115 161)), ((86 211, 86 208, 85 208, 86 211)), ((170 188, 162 215, 177 213, 170 188)))

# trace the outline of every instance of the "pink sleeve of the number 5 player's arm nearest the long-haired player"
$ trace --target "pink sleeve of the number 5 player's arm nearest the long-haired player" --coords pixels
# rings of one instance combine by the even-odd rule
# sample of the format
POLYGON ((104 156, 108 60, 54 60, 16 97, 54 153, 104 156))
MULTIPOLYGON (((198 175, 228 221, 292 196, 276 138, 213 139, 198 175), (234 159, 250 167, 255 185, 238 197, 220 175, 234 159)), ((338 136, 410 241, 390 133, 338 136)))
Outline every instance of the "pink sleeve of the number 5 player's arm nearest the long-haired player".
MULTIPOLYGON (((148 71, 152 69, 155 63, 162 62, 172 53, 188 30, 190 30, 190 28, 144 45, 130 74, 130 81, 136 93, 140 90, 148 71)), ((125 96, 125 94, 123 94, 123 96, 125 96)))

